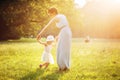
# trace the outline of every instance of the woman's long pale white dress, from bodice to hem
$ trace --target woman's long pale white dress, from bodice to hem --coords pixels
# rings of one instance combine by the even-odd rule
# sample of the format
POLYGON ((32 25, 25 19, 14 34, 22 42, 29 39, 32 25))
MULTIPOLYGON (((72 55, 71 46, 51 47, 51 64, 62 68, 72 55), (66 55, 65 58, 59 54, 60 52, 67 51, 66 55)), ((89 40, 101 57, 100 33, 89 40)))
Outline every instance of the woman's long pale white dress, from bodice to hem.
POLYGON ((55 18, 58 19, 56 26, 61 29, 58 36, 57 64, 60 69, 69 69, 72 32, 64 15, 58 14, 55 18))

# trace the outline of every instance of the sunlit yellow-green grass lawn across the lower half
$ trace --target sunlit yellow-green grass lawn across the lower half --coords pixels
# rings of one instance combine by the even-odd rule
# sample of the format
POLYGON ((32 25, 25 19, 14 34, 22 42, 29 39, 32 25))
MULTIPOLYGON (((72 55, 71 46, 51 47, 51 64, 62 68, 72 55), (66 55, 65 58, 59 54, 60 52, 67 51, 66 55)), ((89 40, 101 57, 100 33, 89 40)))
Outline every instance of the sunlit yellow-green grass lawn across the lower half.
POLYGON ((57 72, 55 64, 40 69, 44 46, 35 39, 0 42, 0 80, 120 80, 120 41, 73 39, 71 70, 57 72))

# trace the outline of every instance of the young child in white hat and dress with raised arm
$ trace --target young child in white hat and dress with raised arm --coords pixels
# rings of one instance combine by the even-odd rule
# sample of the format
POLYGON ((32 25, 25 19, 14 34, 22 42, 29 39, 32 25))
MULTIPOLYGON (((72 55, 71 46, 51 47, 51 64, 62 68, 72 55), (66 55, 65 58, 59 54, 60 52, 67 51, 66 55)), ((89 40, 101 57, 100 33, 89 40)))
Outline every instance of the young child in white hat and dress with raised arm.
POLYGON ((50 63, 54 64, 53 56, 51 55, 53 42, 54 42, 54 37, 52 35, 47 36, 46 42, 41 42, 41 40, 39 40, 39 43, 45 46, 44 52, 42 54, 42 61, 44 63, 39 65, 40 68, 42 68, 43 66, 47 68, 50 63))

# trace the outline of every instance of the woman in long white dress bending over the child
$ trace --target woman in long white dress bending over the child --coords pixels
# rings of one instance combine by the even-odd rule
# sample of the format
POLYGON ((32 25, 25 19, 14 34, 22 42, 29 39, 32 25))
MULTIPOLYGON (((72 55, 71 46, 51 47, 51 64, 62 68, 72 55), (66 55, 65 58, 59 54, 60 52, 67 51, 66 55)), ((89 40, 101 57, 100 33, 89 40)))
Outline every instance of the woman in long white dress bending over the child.
POLYGON ((67 70, 70 68, 70 48, 72 38, 68 21, 63 14, 58 14, 56 8, 50 8, 48 10, 48 14, 52 17, 52 19, 38 34, 37 39, 39 39, 47 27, 51 26, 52 24, 56 24, 56 26, 60 29, 57 45, 57 64, 59 66, 59 70, 67 70))

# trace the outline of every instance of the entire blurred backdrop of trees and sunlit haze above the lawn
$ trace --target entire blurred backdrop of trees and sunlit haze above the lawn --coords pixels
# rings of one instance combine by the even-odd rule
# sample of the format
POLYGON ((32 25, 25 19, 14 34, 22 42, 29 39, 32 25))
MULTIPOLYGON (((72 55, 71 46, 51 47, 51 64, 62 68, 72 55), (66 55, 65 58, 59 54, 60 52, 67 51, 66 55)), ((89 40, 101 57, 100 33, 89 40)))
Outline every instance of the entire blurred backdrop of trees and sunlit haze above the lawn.
MULTIPOLYGON (((1 0, 0 40, 36 37, 49 7, 67 16, 73 37, 120 38, 120 0, 1 0)), ((53 25, 42 36, 58 33, 53 25)))

